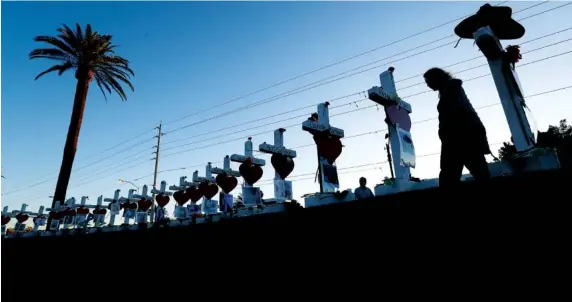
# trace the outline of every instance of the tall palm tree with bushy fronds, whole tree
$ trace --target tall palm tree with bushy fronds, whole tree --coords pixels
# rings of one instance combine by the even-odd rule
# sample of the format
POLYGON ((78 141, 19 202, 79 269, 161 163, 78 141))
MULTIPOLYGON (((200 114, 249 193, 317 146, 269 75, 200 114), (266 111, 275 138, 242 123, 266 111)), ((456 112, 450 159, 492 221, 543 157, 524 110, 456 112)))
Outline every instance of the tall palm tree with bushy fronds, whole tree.
POLYGON ((35 37, 34 41, 47 43, 51 48, 38 48, 29 54, 30 59, 49 59, 58 62, 38 74, 36 80, 54 71, 61 76, 68 70, 74 70, 77 79, 68 136, 52 207, 56 201, 66 200, 89 83, 95 79, 106 100, 106 92, 111 94, 113 90, 122 101, 126 101, 127 96, 122 85, 127 85, 134 91, 130 78, 135 75, 129 68, 129 61, 115 55, 113 50, 116 45, 111 43, 111 35, 99 34, 93 31, 89 24, 85 27, 85 32, 79 24, 76 24, 75 32, 65 24, 58 31, 57 36, 35 37))

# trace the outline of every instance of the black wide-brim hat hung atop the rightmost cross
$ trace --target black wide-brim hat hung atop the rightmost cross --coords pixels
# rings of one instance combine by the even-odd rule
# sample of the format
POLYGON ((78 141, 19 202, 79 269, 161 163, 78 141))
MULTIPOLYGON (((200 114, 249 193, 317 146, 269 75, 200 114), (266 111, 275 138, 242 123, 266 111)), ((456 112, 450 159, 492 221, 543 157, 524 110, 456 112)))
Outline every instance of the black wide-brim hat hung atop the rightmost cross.
POLYGON ((459 38, 473 39, 473 34, 482 27, 490 26, 499 40, 514 40, 524 36, 525 29, 512 18, 512 9, 508 6, 485 4, 479 11, 465 18, 455 27, 459 38))

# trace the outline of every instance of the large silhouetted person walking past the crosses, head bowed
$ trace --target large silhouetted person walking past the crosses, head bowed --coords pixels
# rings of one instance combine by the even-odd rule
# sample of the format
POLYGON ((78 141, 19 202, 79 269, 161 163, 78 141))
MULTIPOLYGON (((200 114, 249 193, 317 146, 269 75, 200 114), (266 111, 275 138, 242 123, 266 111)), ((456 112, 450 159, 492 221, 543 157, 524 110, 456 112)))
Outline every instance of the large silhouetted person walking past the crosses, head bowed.
POLYGON ((423 77, 429 88, 439 91, 439 186, 450 187, 460 183, 463 166, 476 181, 489 179, 485 155, 491 154, 491 150, 487 131, 465 94, 463 81, 440 68, 429 69, 423 77))

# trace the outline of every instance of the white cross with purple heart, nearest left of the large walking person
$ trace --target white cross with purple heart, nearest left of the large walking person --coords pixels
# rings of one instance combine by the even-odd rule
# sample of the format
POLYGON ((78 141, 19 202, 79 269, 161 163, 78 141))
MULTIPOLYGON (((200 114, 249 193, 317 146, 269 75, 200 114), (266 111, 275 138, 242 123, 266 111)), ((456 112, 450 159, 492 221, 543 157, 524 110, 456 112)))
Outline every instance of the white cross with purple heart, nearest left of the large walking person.
MULTIPOLYGON (((367 91, 368 97, 375 103, 384 106, 384 108, 397 105, 409 114, 412 112, 411 105, 397 97, 395 80, 393 79, 394 70, 395 68, 390 67, 387 71, 384 71, 379 75, 381 87, 375 86, 369 89, 367 91)), ((386 119, 386 121, 389 121, 389 119, 386 119)), ((393 169, 395 171, 395 178, 398 182, 408 182, 411 174, 409 167, 402 165, 402 154, 398 127, 399 125, 394 125, 391 123, 387 125, 391 146, 391 155, 393 157, 393 169)))

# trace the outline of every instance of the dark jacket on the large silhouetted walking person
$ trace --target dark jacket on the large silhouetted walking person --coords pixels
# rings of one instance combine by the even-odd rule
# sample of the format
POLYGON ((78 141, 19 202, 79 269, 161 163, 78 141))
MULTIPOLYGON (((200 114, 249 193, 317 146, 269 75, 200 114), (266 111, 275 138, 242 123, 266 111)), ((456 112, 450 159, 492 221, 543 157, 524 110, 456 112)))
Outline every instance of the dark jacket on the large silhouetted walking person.
POLYGON ((463 81, 452 79, 439 93, 439 138, 444 145, 490 154, 485 126, 462 85, 463 81))

